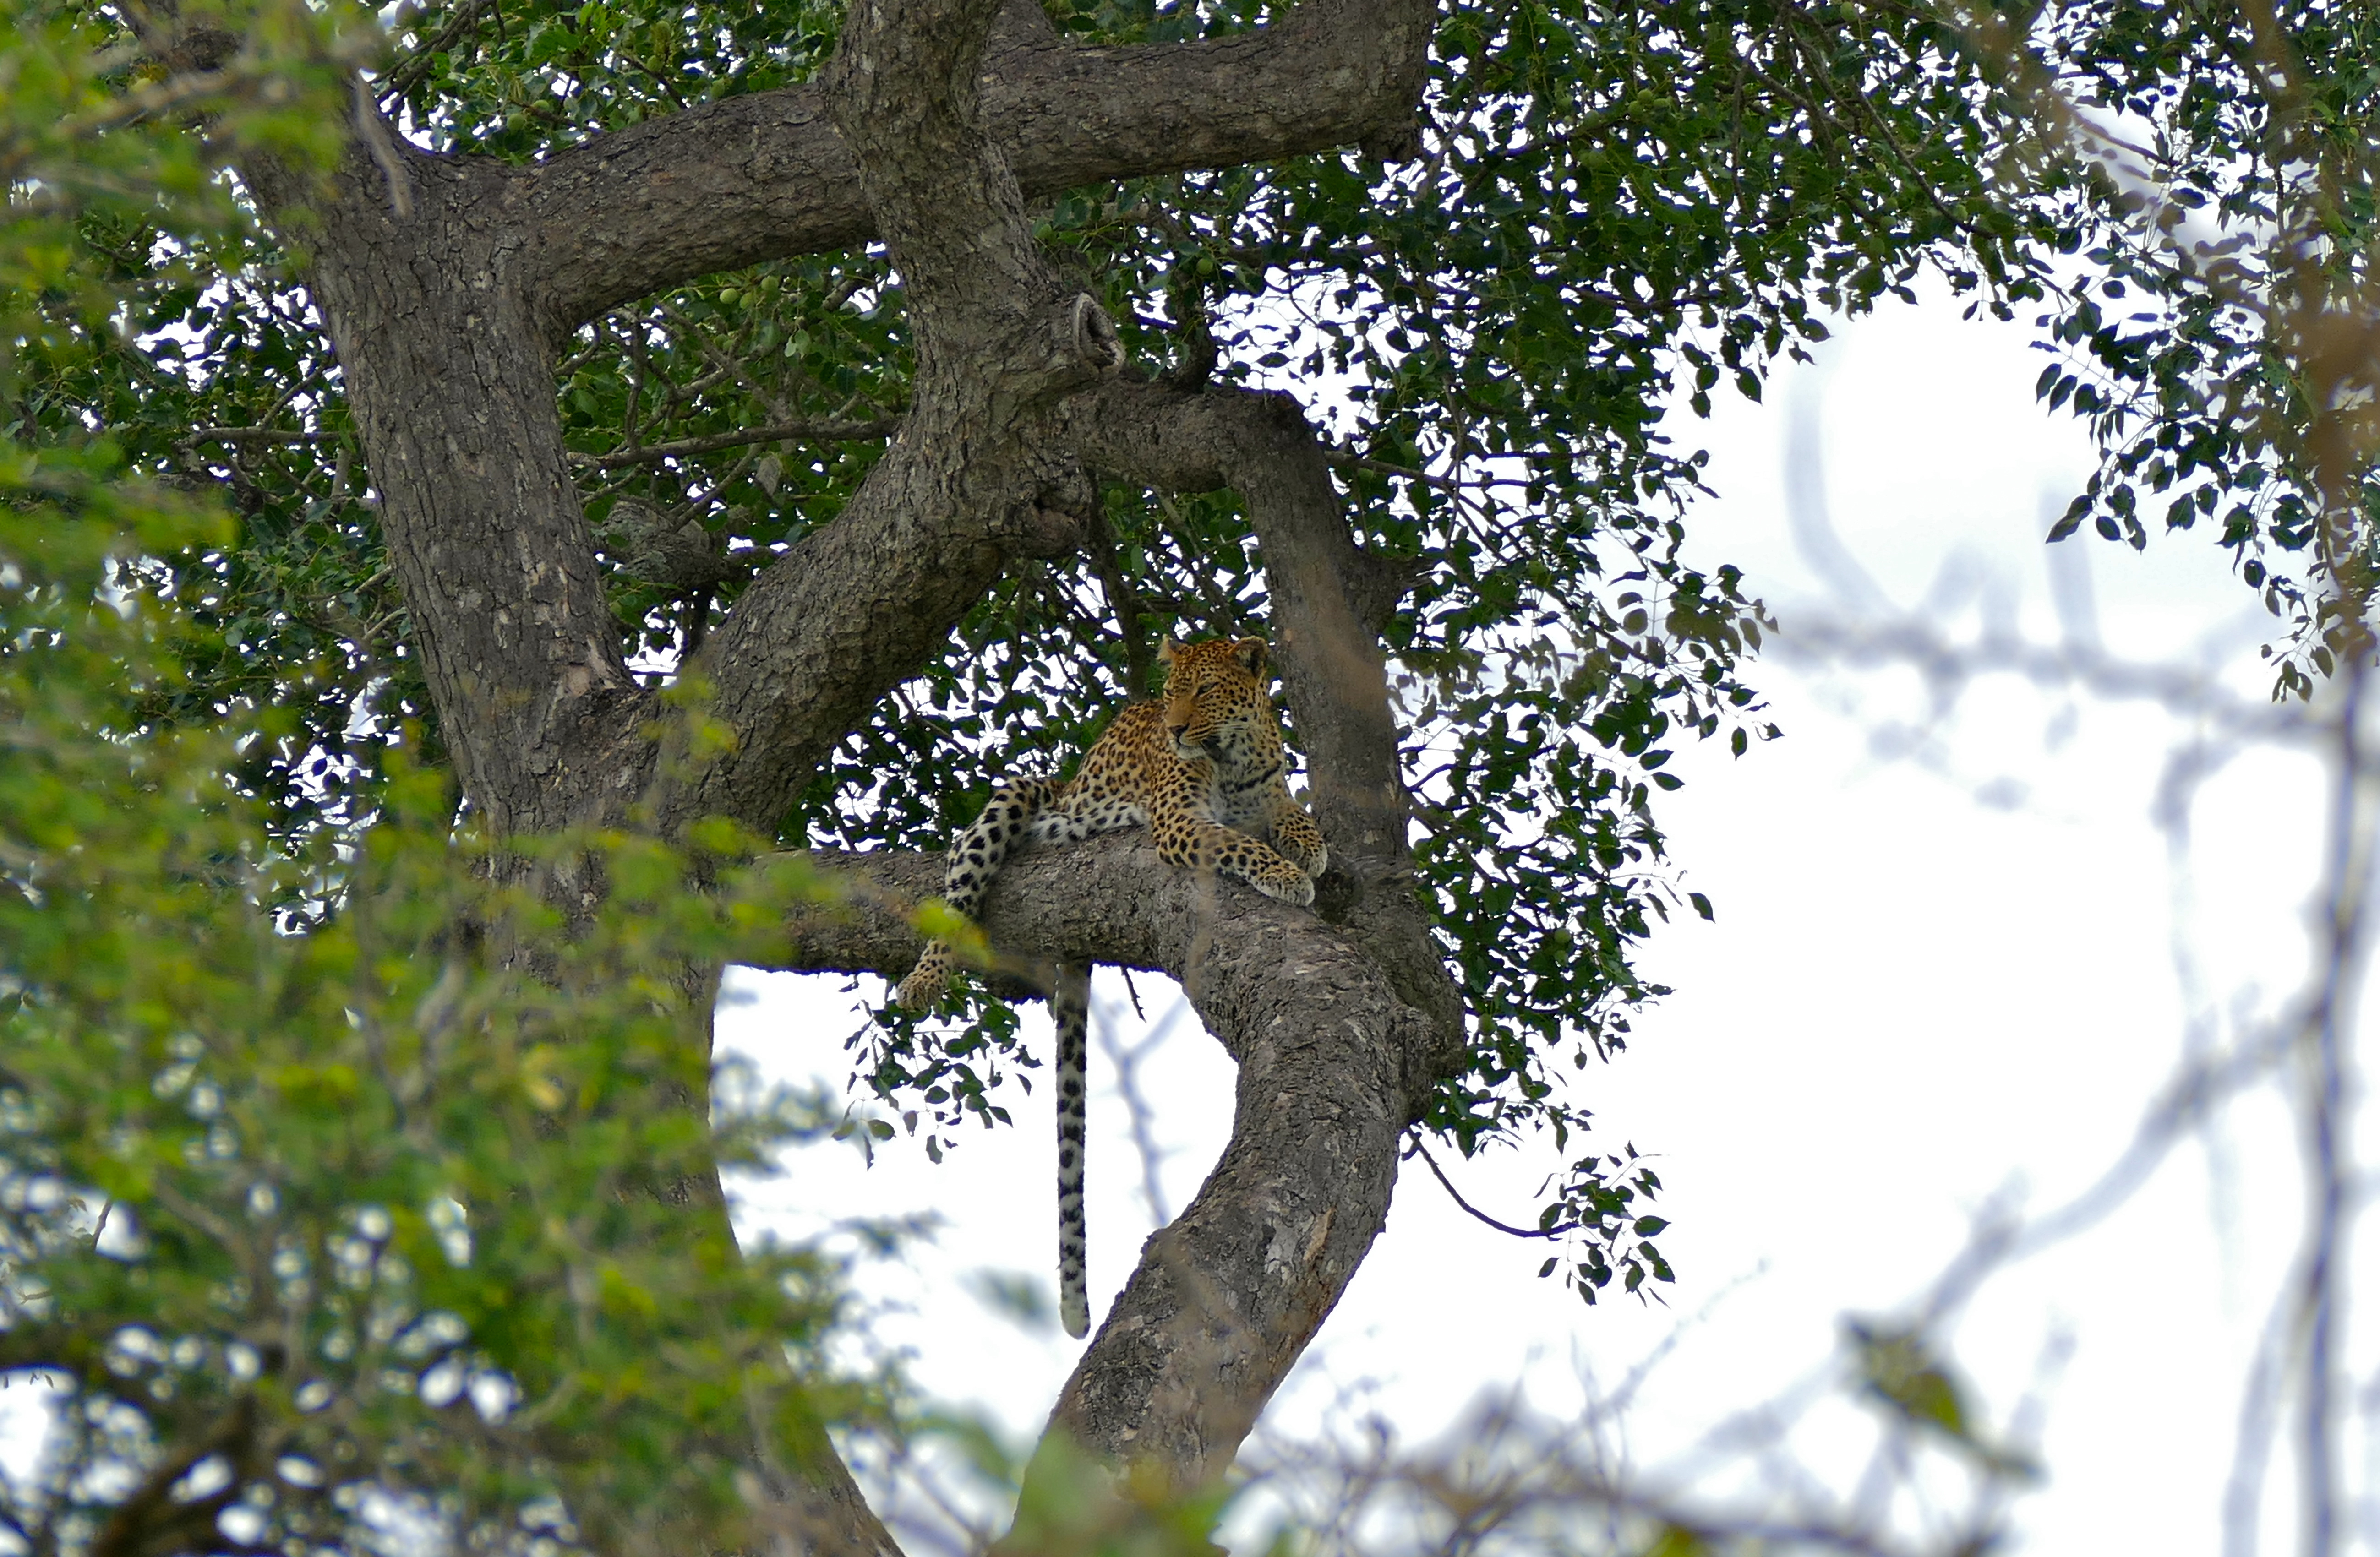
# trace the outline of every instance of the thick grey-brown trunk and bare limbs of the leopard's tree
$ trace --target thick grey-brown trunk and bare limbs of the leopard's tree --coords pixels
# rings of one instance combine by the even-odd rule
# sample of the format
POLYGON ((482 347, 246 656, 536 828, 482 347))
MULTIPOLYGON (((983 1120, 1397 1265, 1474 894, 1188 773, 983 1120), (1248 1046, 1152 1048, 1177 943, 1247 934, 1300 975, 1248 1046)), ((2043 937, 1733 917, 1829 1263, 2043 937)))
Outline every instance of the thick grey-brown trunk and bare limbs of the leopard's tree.
MULTIPOLYGON (((990 907, 1019 950, 1183 978, 1240 1062, 1230 1150, 1152 1240, 1052 1433, 1173 1490, 1221 1474, 1345 1290, 1385 1217, 1397 1138, 1457 1052, 1461 1002, 1411 890, 1368 626, 1395 569, 1357 550, 1295 407, 1121 376, 1107 321, 1045 264, 1023 200, 1349 143, 1395 152, 1414 136, 1430 21, 1421 0, 1307 0, 1259 33, 1085 50, 1031 2, 864 0, 821 83, 543 167, 400 145, 393 169, 357 150, 328 188, 245 169, 271 219, 302 231, 431 698, 464 798, 497 833, 676 831, 704 814, 769 833, 1014 559, 1078 545, 1085 464, 1242 493, 1333 848, 1330 921, 1192 883, 1130 840, 1064 869, 1026 857, 990 907), (557 343, 657 288, 869 236, 902 274, 912 412, 843 514, 704 643, 707 712, 733 743, 657 750, 645 731, 662 709, 626 671, 564 462, 557 343)), ((938 869, 828 864, 909 898, 938 869)), ((785 964, 900 971, 914 955, 895 919, 857 914, 797 926, 785 964)), ((762 1528, 800 1547, 890 1547, 840 1464, 771 1493, 762 1528)))

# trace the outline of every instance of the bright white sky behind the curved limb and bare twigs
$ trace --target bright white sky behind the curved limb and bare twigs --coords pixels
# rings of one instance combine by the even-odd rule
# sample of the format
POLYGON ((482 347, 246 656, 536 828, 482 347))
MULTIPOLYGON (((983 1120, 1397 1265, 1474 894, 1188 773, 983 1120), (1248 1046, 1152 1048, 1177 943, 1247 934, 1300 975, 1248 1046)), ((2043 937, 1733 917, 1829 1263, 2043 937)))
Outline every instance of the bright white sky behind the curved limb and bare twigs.
MULTIPOLYGON (((1714 448, 1699 559, 1745 567, 1787 643, 1818 614, 1785 507, 1799 414, 1821 429, 1835 531, 1892 602, 1933 600, 1933 621, 1961 638, 1992 621, 2056 643, 2044 507, 2078 488, 2090 457, 2073 424, 2035 409, 2042 357, 2025 336, 1959 321, 1954 305, 1899 307, 1849 326, 1818 369, 1783 374, 1766 407, 1730 402, 1711 424, 1678 426, 1714 448)), ((2266 624, 2244 617, 2249 593, 2211 540, 2161 538, 2144 557, 2097 540, 2059 550, 2061 567, 2087 569, 2111 652, 2213 643, 2261 698, 2266 624)), ((2075 583, 2068 574, 2068 600, 2075 583)), ((2194 907, 2178 940, 2178 876, 2152 800, 2187 729, 2166 712, 1997 679, 1954 719, 1928 721, 1914 671, 1840 674, 1790 655, 1754 664, 1752 681, 1785 738, 1745 759, 1683 752, 1673 771, 1687 788, 1661 802, 1673 859, 1718 921, 1654 938, 1645 962, 1678 993, 1583 1081, 1604 1150, 1659 1152, 1671 1307, 1580 1307, 1535 1281, 1542 1248, 1466 1219, 1414 1164, 1271 1426, 1311 1433, 1378 1412, 1423 1440, 1480 1390, 1514 1383, 1545 1412, 1578 1412, 1583 1376, 1609 1388, 1685 1324, 1626 1419, 1635 1455, 1659 1464, 1825 1364, 1844 1312, 1890 1314, 1921 1293, 1990 1198, 2047 1207, 2090 1183, 2180 1055, 2185 1012, 2268 1012, 2304 974, 2311 757, 2249 752, 2197 793, 2194 907), (2175 945, 2194 955, 2197 998, 2175 945)), ((726 1045, 771 1074, 840 1083, 843 1038, 862 1021, 840 981, 740 974, 731 990, 752 1000, 721 1012, 726 1045)), ((1154 978, 1140 990, 1152 1017, 1171 1000, 1154 978)), ((1114 974, 1100 995, 1130 1021, 1114 974)), ((1038 1007, 1028 1033, 1047 1052, 1038 1007)), ((1145 1090, 1178 1209, 1223 1143, 1230 1069, 1180 1024, 1145 1090)), ((1078 1345, 1054 1324, 1021 1328, 966 1281, 1052 1278, 1047 1088, 1009 1107, 1014 1131, 969 1133, 940 1169, 914 1143, 881 1150, 873 1169, 845 1148, 800 1152, 788 1176, 747 1188, 743 1221, 809 1233, 838 1217, 940 1212, 933 1248, 862 1276, 895 1309, 881 1333, 914 1350, 928 1390, 1031 1436, 1078 1345)), ((1097 1324, 1154 1226, 1100 1055, 1090 1128, 1097 1324)), ((2018 1507, 2025 1550, 2218 1550, 2242 1367, 2294 1238, 2290 1140, 2280 1107, 2249 1100, 2216 1176, 2209 1152, 2180 1150, 2094 1233, 1985 1288, 1954 1331, 1994 1424, 2035 1383, 2044 1345, 2073 1345, 2044 1395, 2052 1478, 2018 1507)), ((1533 1221, 1552 1167, 1547 1148, 1449 1171, 1473 1202, 1533 1221)), ((1856 1445, 1847 1409, 1816 1414, 1799 1438, 1840 1486, 1856 1478, 1856 1445)), ((2275 1476, 2268 1502, 2287 1502, 2285 1464, 2275 1476)))

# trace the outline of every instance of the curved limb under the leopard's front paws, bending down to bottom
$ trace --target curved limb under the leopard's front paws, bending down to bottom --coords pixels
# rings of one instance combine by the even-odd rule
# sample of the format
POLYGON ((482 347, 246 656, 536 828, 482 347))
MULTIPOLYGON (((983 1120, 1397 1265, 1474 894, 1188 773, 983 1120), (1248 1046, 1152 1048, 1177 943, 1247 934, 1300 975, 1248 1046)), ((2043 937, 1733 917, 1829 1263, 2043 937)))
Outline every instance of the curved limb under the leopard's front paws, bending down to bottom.
MULTIPOLYGON (((907 971, 919 938, 895 905, 940 886, 940 857, 809 862, 854 895, 790 926, 783 967, 907 971)), ((1211 1486, 1388 1217, 1397 1138, 1435 1081, 1430 1019, 1335 926, 1178 871, 1142 833, 1021 848, 983 926, 1007 955, 1171 974, 1238 1062, 1230 1145, 1145 1248, 1052 1419, 1066 1447, 1211 1486)))

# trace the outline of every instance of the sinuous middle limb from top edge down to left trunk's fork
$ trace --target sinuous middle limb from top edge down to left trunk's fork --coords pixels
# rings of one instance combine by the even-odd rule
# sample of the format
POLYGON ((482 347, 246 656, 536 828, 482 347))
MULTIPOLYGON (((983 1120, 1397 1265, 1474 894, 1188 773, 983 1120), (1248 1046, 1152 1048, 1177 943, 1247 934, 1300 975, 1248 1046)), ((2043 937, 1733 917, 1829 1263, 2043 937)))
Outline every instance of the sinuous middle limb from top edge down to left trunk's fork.
MULTIPOLYGON (((712 717, 738 733, 662 764, 657 817, 774 826, 826 752, 1019 555, 1081 543, 1095 493, 1042 409, 1121 362, 1066 286, 976 114, 1002 0, 876 0, 845 24, 828 93, 892 250, 916 343, 909 417, 843 514, 764 571, 704 643, 712 717)), ((1021 0, 1009 31, 1047 29, 1021 0), (1016 17, 1031 12, 1031 17, 1016 17)))

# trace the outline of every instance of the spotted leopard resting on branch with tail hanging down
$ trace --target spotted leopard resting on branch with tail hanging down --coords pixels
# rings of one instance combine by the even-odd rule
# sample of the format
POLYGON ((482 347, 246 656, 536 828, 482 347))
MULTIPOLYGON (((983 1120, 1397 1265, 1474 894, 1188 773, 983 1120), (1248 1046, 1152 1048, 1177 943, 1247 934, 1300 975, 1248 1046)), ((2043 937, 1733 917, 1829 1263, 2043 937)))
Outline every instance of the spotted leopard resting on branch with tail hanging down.
MULTIPOLYGON (((1280 719, 1266 693, 1264 638, 1209 638, 1157 648, 1166 690, 1126 705, 1073 778, 1012 778, 957 836, 942 902, 973 914, 1002 859, 1023 840, 1081 843, 1147 826, 1157 857, 1235 876, 1266 898, 1314 905, 1330 864, 1314 817, 1290 795, 1280 719)), ((933 940, 892 1000, 923 1012, 950 983, 957 955, 933 940)), ((1090 1333, 1088 1219, 1083 1214, 1083 1071, 1090 1038, 1090 964, 1064 964, 1050 988, 1057 1026, 1057 1262, 1059 1321, 1090 1333)))

